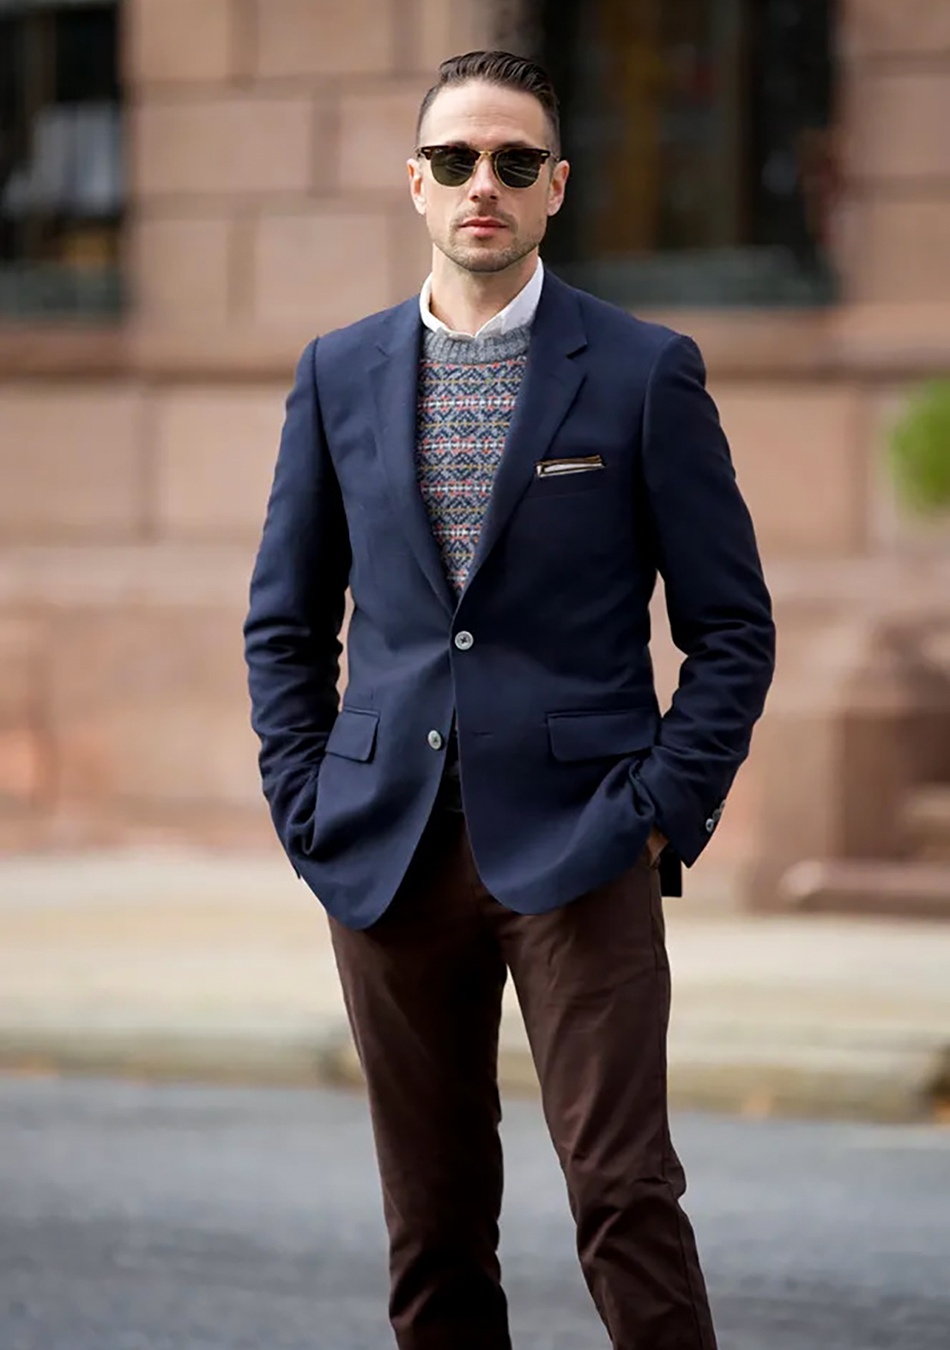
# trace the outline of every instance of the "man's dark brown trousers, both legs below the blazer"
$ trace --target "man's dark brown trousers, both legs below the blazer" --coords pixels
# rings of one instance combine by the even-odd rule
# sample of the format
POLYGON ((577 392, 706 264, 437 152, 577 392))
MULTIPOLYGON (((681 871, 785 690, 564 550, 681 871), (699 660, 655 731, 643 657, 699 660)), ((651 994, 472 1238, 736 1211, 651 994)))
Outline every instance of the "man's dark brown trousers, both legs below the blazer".
POLYGON ((511 972, 587 1285, 617 1350, 715 1350, 667 1120, 667 963, 646 853, 548 914, 482 884, 436 810, 390 909, 331 921, 368 1088, 401 1350, 510 1350, 498 1025, 511 972))

